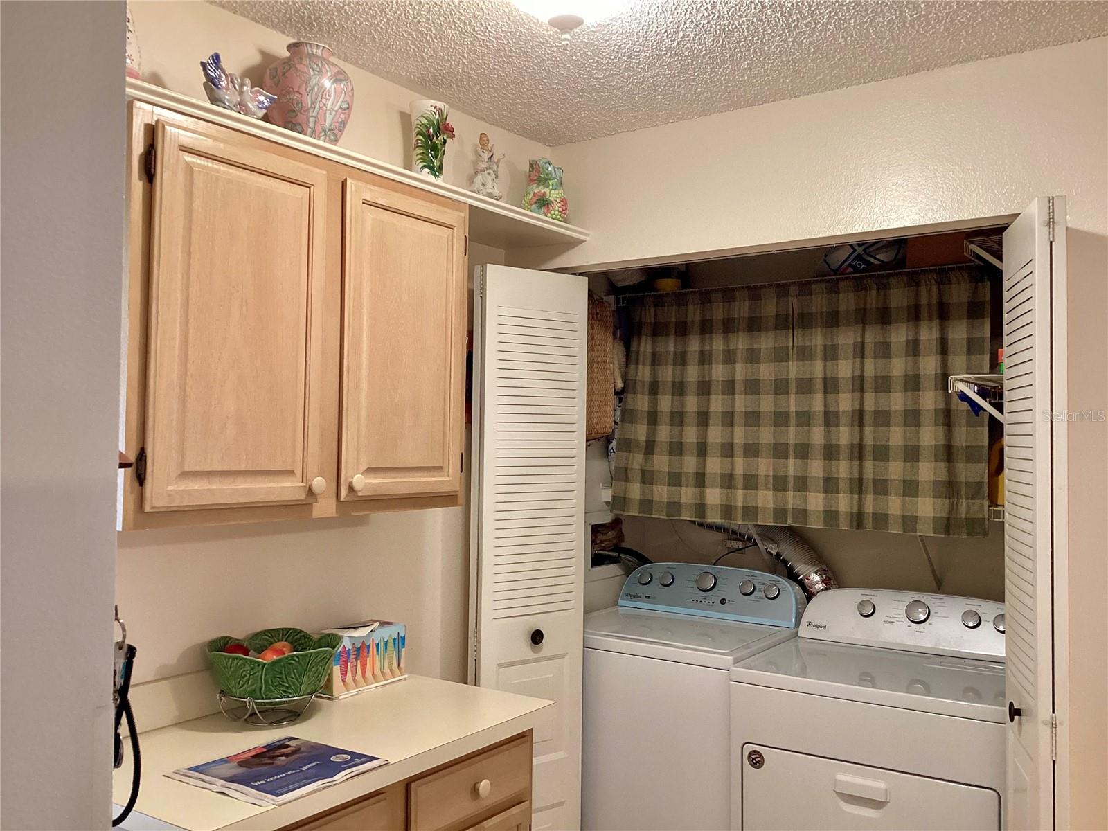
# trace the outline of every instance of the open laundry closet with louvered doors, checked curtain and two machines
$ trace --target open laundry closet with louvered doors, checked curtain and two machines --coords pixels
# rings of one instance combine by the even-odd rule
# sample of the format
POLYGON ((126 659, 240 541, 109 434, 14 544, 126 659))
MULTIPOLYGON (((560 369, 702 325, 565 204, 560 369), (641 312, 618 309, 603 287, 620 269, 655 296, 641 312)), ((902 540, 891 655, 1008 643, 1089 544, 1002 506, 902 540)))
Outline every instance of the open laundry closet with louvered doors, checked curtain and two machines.
POLYGON ((536 828, 1040 824, 1055 203, 479 269, 471 679, 561 705, 536 828))

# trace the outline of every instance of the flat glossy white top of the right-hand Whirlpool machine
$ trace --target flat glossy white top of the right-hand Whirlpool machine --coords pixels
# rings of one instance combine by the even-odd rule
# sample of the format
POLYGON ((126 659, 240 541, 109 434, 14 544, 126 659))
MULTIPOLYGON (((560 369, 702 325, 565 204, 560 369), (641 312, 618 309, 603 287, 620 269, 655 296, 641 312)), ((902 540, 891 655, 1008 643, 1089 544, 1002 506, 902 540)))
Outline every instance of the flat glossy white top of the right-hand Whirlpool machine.
POLYGON ((743 659, 731 680, 829 698, 1005 719, 1004 664, 793 638, 743 659))

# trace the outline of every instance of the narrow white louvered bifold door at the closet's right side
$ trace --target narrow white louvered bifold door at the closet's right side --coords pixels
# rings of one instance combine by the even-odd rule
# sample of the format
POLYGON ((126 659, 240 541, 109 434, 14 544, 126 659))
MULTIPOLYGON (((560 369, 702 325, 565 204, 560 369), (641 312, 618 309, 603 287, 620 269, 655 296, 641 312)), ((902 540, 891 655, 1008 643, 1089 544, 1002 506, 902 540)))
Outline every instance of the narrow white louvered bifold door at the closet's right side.
POLYGON ((1060 197, 1040 197, 1004 233, 1009 829, 1054 828, 1050 288, 1064 216, 1060 197))

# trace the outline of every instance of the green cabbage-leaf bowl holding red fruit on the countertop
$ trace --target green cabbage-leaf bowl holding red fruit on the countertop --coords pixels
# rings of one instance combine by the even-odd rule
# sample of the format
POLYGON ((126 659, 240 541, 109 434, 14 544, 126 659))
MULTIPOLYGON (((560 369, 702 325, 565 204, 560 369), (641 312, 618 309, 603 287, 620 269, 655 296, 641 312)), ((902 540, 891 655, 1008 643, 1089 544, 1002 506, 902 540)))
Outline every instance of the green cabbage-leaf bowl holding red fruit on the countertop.
POLYGON ((261 629, 245 639, 222 635, 207 643, 208 664, 219 689, 234 698, 255 701, 297 698, 319 691, 341 643, 340 635, 312 637, 291 627, 261 629), (295 652, 270 661, 223 652, 227 644, 244 644, 260 655, 279 640, 290 643, 295 652))

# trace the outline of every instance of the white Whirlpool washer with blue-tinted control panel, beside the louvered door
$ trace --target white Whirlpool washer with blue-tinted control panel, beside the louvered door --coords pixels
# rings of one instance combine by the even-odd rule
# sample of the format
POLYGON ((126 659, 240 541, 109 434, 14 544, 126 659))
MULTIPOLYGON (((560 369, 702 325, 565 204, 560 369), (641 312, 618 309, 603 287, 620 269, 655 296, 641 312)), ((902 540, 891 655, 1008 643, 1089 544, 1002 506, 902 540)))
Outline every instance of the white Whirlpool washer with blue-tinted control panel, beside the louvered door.
POLYGON ((582 827, 727 829, 728 671, 793 638, 803 607, 777 575, 657 563, 586 615, 582 827))

